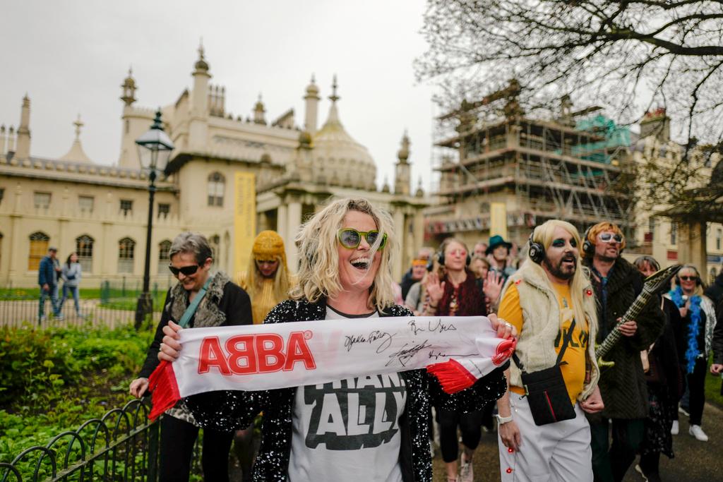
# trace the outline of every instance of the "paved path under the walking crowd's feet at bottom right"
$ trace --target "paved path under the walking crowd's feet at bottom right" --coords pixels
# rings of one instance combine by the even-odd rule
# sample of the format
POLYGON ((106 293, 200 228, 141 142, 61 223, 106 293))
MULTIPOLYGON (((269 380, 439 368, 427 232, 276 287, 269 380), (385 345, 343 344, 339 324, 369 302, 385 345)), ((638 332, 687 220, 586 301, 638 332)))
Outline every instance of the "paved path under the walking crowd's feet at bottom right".
MULTIPOLYGON (((673 437, 675 458, 664 455, 660 461, 660 475, 665 482, 723 482, 723 410, 706 404, 703 412, 703 430, 709 442, 698 442, 688 434, 687 418, 680 421, 680 434, 673 437)), ((446 482, 444 462, 437 451, 434 460, 435 482, 446 482)), ((497 433, 482 434, 482 442, 474 455, 474 480, 500 481, 500 459, 497 453, 497 433)), ((633 467, 624 482, 642 482, 633 467)), ((571 481, 573 482, 573 481, 571 481)))

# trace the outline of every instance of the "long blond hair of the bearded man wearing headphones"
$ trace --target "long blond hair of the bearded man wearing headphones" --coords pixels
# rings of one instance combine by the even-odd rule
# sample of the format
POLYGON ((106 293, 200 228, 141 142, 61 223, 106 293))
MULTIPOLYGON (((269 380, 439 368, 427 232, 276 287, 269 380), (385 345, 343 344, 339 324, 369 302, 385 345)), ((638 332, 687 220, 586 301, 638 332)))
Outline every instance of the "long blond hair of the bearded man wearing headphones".
MULTIPOLYGON (((594 304, 594 297, 593 296, 584 296, 586 290, 591 289, 591 283, 590 283, 590 270, 583 266, 583 249, 582 249, 582 242, 580 233, 578 233, 578 230, 575 226, 571 225, 567 221, 561 221, 557 219, 552 219, 549 221, 546 221, 545 223, 542 223, 541 225, 537 226, 534 231, 532 231, 532 241, 542 244, 545 251, 549 249, 549 246, 552 245, 552 241, 555 241, 555 228, 562 228, 570 235, 573 236, 573 239, 576 241, 578 246, 578 257, 576 259, 577 267, 575 270, 575 275, 573 275, 572 279, 570 280, 570 298, 572 298, 573 302, 573 312, 575 313, 575 319, 581 320, 586 319, 585 318, 585 309, 584 304, 586 302, 586 298, 589 298, 591 300, 591 303, 594 304)), ((536 262, 533 262, 529 257, 526 259, 525 264, 530 264, 529 266, 530 270, 539 270, 538 275, 545 280, 549 280, 547 277, 546 272, 542 268, 540 264, 537 264, 536 262)), ((591 313, 591 319, 589 319, 589 322, 592 326, 597 326, 597 314, 595 309, 589 310, 591 313)))

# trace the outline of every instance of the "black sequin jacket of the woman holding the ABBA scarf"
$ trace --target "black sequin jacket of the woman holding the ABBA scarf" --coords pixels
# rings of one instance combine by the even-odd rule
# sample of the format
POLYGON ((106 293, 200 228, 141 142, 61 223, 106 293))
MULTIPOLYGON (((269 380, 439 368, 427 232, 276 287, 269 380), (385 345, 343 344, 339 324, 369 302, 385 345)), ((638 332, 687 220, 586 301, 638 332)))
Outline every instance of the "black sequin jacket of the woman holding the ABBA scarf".
MULTIPOLYGON (((385 309, 382 317, 407 317, 411 311, 393 305, 385 309)), ((287 300, 274 307, 264 323, 286 323, 325 319, 326 301, 312 304, 307 301, 287 300)), ((479 379, 473 387, 449 397, 441 390, 429 390, 437 380, 426 370, 401 372, 406 383, 406 408, 400 419, 401 465, 404 482, 432 482, 432 457, 429 454, 430 403, 450 410, 470 412, 481 410, 505 393, 504 369, 492 371, 479 379), (432 392, 439 392, 431 395, 432 392), (435 400, 432 400, 432 397, 435 400)), ((291 455, 291 414, 294 410, 296 388, 268 390, 264 392, 224 392, 231 395, 219 397, 219 392, 188 397, 187 407, 202 427, 228 431, 239 429, 252 422, 263 411, 262 440, 254 464, 253 480, 286 482, 288 462, 291 455)), ((320 468, 322 470, 322 468, 320 468)), ((362 475, 363 476, 363 475, 362 475)))

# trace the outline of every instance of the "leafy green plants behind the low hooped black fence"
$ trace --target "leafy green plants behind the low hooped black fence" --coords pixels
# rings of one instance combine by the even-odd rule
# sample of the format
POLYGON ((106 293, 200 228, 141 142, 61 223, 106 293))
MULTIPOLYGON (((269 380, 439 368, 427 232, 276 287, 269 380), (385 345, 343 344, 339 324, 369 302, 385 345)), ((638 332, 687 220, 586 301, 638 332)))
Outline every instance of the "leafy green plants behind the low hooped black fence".
POLYGON ((129 400, 153 332, 0 330, 0 462, 129 400))

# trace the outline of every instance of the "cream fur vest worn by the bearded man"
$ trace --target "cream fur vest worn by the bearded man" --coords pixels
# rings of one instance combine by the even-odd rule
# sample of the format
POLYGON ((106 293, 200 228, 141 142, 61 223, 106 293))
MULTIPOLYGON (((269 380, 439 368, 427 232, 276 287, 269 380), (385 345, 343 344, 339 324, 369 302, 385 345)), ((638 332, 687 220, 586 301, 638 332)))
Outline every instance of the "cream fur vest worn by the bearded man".
MULTIPOLYGON (((579 268, 578 268, 579 269, 579 268)), ((531 269, 531 261, 511 275, 505 284, 500 299, 505 292, 514 284, 520 295, 520 306, 522 308, 523 326, 518 335, 517 348, 515 353, 520 358, 525 371, 539 371, 555 365, 557 352, 555 351, 555 338, 560 332, 560 304, 557 301, 557 293, 550 285, 547 276, 540 275, 541 270, 531 269)), ((588 286, 585 291, 592 288, 588 286)), ((595 297, 583 296, 584 311, 590 328, 590 340, 587 358, 592 367, 591 379, 583 386, 583 391, 578 395, 578 400, 586 399, 594 390, 600 378, 600 371, 595 358, 594 340, 597 334, 597 314, 595 309, 595 297)), ((579 323, 579 322, 578 322, 579 323)), ((522 387, 521 371, 510 361, 510 385, 522 387)))

